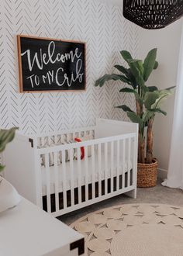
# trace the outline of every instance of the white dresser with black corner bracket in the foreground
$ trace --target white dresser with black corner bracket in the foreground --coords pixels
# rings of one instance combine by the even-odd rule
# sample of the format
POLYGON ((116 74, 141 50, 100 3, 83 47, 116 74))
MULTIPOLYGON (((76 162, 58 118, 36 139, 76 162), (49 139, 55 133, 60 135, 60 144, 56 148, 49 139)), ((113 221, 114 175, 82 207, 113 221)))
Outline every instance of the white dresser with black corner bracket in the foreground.
POLYGON ((84 238, 22 199, 0 213, 0 256, 84 255, 84 238))

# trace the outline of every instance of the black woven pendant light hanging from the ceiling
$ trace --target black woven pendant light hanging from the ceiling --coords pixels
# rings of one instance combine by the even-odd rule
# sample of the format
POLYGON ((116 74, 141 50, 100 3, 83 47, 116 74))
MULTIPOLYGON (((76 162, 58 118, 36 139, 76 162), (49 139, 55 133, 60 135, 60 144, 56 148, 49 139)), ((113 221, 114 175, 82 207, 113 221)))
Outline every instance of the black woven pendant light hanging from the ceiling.
POLYGON ((144 29, 161 29, 183 16, 183 0, 123 0, 123 16, 144 29))

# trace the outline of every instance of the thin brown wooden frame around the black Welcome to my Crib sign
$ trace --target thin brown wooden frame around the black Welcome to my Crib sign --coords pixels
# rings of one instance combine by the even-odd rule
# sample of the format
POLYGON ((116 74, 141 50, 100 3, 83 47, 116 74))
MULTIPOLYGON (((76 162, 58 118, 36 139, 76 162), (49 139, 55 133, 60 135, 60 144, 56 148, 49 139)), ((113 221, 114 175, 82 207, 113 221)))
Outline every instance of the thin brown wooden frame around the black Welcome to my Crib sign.
MULTIPOLYGON (((17 47, 18 47, 18 61, 19 61, 19 92, 24 93, 36 93, 36 92, 81 92, 85 91, 86 89, 86 43, 81 41, 75 40, 59 40, 54 38, 47 38, 47 37, 38 37, 38 36, 27 36, 27 35, 17 35, 17 47), (49 40, 50 42, 65 42, 65 43, 76 43, 76 44, 83 44, 84 47, 84 86, 83 88, 76 88, 76 89, 46 89, 46 90, 25 90, 23 86, 23 74, 22 74, 22 56, 21 56, 21 38, 28 38, 28 39, 35 39, 35 40, 49 40)), ((40 85, 41 87, 41 85, 40 85)))

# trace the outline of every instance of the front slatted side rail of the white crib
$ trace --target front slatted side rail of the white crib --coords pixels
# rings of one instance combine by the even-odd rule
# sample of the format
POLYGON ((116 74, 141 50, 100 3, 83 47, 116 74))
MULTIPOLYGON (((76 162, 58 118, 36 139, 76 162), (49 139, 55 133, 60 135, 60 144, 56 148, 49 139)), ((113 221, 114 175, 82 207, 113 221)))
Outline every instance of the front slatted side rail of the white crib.
POLYGON ((136 133, 38 149, 37 163, 40 156, 45 160, 44 168, 40 165, 37 168, 45 187, 44 192, 40 189, 40 202, 43 204, 44 198, 47 212, 59 216, 136 189, 136 154, 136 133), (81 147, 85 149, 83 159, 81 147), (52 166, 50 154, 54 155, 52 166))

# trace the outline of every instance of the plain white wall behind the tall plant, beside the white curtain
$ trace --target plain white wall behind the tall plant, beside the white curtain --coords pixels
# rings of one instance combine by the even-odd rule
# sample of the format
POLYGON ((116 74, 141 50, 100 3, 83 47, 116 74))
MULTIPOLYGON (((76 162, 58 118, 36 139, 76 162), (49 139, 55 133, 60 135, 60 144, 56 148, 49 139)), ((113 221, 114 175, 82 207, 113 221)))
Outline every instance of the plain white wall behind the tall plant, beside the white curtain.
MULTIPOLYGON (((147 85, 156 85, 158 88, 176 85, 181 24, 182 19, 164 29, 139 29, 139 57, 144 58, 150 49, 157 47, 159 67, 151 74, 147 85)), ((174 96, 171 99, 167 99, 167 102, 164 102, 162 109, 167 112, 167 116, 157 114, 155 119, 154 156, 159 161, 159 168, 167 170, 171 147, 174 96)))

